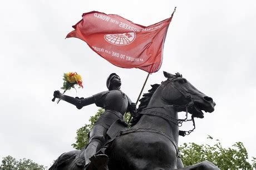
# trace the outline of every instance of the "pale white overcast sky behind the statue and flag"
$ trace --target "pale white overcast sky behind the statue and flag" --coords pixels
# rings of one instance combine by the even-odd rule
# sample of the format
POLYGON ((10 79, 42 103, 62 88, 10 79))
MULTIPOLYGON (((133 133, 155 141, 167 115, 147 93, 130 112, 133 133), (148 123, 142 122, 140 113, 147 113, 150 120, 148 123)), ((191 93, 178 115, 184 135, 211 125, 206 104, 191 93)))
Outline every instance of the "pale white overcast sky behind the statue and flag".
POLYGON ((174 7, 163 64, 150 75, 144 92, 165 80, 163 71, 183 74, 216 106, 195 120, 195 131, 180 137, 179 145, 207 143, 211 135, 224 147, 243 142, 249 157, 256 156, 255 1, 10 0, 0 2, 0 158, 25 157, 50 166, 61 153, 73 150, 76 130, 99 107, 77 110, 67 102, 51 101, 65 72, 76 71, 84 86, 67 95, 105 91, 107 76, 117 73, 122 91, 136 101, 145 71, 117 68, 82 40, 65 39, 82 13, 118 14, 147 26, 169 18, 174 7))

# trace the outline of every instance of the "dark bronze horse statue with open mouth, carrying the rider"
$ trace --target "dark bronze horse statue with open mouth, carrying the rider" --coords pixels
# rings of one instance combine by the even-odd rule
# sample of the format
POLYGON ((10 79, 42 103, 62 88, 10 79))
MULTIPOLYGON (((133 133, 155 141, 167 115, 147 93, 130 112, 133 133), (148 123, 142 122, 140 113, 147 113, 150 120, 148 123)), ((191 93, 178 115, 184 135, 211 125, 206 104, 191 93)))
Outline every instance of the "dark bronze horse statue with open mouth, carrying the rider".
MULTIPOLYGON (((109 143, 105 150, 109 169, 218 169, 208 161, 184 168, 178 149, 179 135, 185 136, 194 130, 179 131, 179 126, 184 121, 194 125, 194 117, 203 118, 202 110, 213 112, 215 102, 179 73, 164 72, 164 75, 167 80, 152 85, 149 93, 140 99, 132 127, 118 133, 109 143), (180 111, 186 115, 189 112, 191 120, 179 119, 180 111)), ((82 169, 75 161, 81 152, 62 154, 50 169, 82 169)))

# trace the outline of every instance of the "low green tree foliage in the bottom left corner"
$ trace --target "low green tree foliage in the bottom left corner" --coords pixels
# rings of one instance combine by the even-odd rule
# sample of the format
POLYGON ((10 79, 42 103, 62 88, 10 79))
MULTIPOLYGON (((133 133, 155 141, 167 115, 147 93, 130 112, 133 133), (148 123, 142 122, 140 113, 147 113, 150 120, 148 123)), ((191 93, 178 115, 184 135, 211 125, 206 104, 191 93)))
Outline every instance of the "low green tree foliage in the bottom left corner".
POLYGON ((45 169, 46 167, 33 162, 31 159, 19 159, 18 161, 12 156, 3 157, 2 164, 0 166, 1 170, 11 170, 11 169, 45 169))

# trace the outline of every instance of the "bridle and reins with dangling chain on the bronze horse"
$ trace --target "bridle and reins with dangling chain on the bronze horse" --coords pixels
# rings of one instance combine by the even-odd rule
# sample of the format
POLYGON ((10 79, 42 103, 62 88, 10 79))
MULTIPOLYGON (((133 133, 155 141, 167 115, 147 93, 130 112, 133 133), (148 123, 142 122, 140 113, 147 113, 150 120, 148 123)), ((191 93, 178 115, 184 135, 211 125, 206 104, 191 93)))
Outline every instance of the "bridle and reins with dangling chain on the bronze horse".
POLYGON ((188 119, 188 107, 192 107, 194 105, 194 102, 191 101, 191 95, 186 92, 184 89, 182 89, 180 86, 176 85, 176 82, 174 81, 177 77, 173 78, 173 79, 168 79, 168 83, 170 83, 171 86, 173 86, 176 90, 178 90, 183 96, 185 96, 186 99, 190 100, 187 104, 182 105, 182 106, 178 106, 178 105, 165 105, 165 106, 155 106, 155 107, 146 107, 145 109, 142 109, 141 112, 139 114, 142 115, 152 115, 152 116, 158 116, 161 117, 165 120, 167 120, 170 123, 174 123, 175 125, 181 127, 183 122, 187 122, 187 121, 192 121, 193 122, 193 129, 189 130, 189 131, 179 131, 179 135, 180 136, 186 136, 189 135, 191 132, 193 132, 195 130, 195 120, 194 120, 194 116, 191 116, 191 119, 188 119), (175 108, 186 108, 186 118, 185 119, 175 119, 169 115, 165 115, 161 112, 156 112, 156 111, 149 111, 147 109, 152 109, 152 108, 157 108, 157 107, 175 107, 175 108))

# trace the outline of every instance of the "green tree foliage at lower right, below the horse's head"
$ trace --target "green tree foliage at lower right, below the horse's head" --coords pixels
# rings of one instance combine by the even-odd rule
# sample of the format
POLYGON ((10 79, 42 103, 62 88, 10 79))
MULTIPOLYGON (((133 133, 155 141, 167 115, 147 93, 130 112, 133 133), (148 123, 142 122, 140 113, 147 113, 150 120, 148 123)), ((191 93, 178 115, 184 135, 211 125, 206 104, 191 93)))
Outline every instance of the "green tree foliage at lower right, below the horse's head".
MULTIPOLYGON (((209 140, 213 137, 208 135, 209 140)), ((179 147, 184 166, 208 160, 220 169, 252 169, 256 168, 253 157, 252 164, 248 162, 248 153, 242 142, 236 142, 232 147, 223 148, 219 140, 213 146, 184 143, 179 147)))

